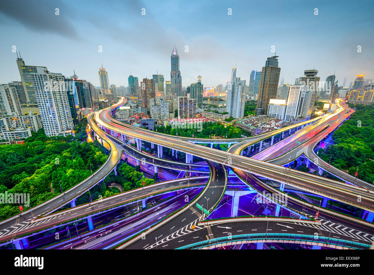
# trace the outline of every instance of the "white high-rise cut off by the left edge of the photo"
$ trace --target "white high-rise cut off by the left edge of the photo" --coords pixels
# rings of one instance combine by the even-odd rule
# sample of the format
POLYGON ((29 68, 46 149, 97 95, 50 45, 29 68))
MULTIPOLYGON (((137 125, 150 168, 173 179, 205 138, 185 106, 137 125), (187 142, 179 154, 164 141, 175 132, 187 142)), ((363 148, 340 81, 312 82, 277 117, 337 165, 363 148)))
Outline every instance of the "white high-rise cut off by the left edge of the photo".
POLYGON ((17 90, 9 84, 0 85, 0 116, 21 116, 17 90))

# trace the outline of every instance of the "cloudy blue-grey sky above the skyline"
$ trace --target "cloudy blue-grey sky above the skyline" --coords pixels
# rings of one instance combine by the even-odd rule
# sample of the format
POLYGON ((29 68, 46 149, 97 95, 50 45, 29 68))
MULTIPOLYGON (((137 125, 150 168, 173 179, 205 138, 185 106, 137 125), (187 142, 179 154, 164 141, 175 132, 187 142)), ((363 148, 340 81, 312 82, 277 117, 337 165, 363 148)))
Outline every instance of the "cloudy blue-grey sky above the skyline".
POLYGON ((340 85, 347 76, 348 86, 356 74, 374 78, 373 7, 374 1, 344 0, 4 1, 0 83, 20 80, 13 46, 26 65, 65 76, 75 70, 95 86, 101 64, 116 86, 128 86, 130 71, 139 79, 158 71, 170 80, 175 44, 182 86, 199 74, 205 87, 225 86, 233 64, 248 85, 272 49, 280 82, 294 84, 314 68, 321 80, 335 71, 340 85))

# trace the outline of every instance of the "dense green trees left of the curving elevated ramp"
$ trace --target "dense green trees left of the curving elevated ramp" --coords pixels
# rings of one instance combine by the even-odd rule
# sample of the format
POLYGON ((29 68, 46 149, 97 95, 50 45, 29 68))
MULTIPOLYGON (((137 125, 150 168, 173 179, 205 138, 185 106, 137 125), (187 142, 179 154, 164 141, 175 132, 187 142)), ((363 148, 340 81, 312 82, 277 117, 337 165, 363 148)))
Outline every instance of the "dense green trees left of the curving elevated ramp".
MULTIPOLYGON (((89 177, 90 166, 94 172, 105 162, 105 151, 85 141, 86 124, 83 121, 74 128, 74 138, 47 137, 40 129, 23 144, 1 145, 0 196, 5 192, 30 194, 30 205, 35 207, 61 193, 60 181, 66 191, 89 177)), ((0 204, 0 220, 19 213, 17 202, 0 204)))

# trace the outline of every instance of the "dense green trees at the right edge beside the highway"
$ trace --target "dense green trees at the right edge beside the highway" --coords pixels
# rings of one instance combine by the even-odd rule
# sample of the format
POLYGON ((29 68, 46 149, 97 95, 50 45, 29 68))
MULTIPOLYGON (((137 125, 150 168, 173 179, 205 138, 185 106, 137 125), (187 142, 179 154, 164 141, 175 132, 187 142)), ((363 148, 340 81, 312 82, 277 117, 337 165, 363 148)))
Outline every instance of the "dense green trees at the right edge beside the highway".
POLYGON ((348 170, 358 178, 374 181, 374 108, 356 105, 356 111, 332 134, 334 145, 319 149, 318 156, 341 170, 348 170), (330 156, 330 154, 332 156, 330 156), (358 167, 357 167, 358 166, 358 167))

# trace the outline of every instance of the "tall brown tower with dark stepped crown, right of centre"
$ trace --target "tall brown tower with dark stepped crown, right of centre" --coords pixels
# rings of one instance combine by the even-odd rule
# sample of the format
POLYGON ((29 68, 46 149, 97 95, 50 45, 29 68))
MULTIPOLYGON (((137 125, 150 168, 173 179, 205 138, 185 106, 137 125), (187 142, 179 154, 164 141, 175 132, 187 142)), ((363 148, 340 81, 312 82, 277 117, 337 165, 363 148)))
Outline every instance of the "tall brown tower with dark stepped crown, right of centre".
POLYGON ((278 67, 277 55, 268 57, 265 67, 261 71, 260 88, 258 91, 257 107, 255 115, 267 114, 267 106, 270 99, 275 99, 277 95, 279 74, 281 68, 278 67))

